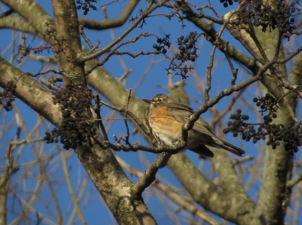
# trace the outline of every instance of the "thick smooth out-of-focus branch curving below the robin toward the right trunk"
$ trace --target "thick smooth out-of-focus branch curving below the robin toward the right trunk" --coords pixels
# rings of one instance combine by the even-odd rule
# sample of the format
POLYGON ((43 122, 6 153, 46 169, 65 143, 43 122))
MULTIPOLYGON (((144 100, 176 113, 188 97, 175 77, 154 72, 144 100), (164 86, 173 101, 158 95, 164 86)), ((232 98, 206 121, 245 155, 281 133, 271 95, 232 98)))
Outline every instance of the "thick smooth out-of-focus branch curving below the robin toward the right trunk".
POLYGON ((168 165, 195 202, 233 223, 248 224, 255 203, 246 195, 221 190, 183 153, 173 155, 168 165))

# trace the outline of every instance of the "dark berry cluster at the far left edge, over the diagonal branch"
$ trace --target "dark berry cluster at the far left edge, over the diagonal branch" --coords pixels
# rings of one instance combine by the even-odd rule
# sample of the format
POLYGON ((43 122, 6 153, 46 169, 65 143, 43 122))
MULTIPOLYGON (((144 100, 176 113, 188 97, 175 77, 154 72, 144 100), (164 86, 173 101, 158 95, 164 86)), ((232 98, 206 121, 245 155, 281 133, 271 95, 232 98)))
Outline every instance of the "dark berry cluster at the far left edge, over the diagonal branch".
POLYGON ((16 87, 17 85, 13 81, 8 81, 3 91, 0 91, 0 104, 7 112, 13 109, 12 103, 15 100, 16 87))

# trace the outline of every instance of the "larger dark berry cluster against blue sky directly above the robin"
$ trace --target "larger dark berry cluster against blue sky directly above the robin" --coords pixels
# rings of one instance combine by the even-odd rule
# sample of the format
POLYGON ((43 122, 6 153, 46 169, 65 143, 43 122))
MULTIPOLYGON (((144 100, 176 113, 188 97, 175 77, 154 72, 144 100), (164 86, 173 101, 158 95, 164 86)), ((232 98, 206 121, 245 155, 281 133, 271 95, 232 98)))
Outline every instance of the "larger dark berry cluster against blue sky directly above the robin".
POLYGON ((179 53, 177 52, 175 54, 175 57, 178 60, 181 60, 182 63, 184 63, 188 60, 194 62, 196 60, 196 58, 198 57, 198 55, 196 53, 198 48, 196 48, 196 46, 195 46, 197 38, 198 38, 197 33, 191 31, 190 34, 187 35, 186 37, 181 35, 177 39, 177 44, 179 45, 179 47, 178 47, 179 53))

